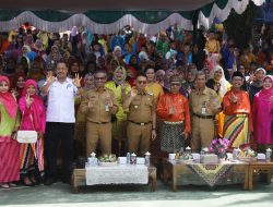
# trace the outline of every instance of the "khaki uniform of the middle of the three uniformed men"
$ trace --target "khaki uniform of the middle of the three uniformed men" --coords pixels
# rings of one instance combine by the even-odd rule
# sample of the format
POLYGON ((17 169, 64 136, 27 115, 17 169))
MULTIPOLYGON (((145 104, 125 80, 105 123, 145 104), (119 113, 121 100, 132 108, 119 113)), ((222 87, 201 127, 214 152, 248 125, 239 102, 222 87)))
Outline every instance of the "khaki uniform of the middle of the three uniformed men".
POLYGON ((152 137, 152 119, 155 111, 154 96, 150 93, 139 93, 129 106, 128 114, 128 148, 130 153, 138 153, 140 148, 141 155, 150 149, 152 137))

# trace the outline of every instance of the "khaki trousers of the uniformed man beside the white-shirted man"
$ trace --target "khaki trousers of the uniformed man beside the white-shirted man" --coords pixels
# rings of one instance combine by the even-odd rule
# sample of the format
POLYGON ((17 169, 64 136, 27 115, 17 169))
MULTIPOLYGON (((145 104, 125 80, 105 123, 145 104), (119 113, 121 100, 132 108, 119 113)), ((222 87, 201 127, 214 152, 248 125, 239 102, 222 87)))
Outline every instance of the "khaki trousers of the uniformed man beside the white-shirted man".
POLYGON ((111 122, 98 124, 86 123, 86 156, 96 151, 97 143, 100 144, 103 155, 111 154, 111 122))

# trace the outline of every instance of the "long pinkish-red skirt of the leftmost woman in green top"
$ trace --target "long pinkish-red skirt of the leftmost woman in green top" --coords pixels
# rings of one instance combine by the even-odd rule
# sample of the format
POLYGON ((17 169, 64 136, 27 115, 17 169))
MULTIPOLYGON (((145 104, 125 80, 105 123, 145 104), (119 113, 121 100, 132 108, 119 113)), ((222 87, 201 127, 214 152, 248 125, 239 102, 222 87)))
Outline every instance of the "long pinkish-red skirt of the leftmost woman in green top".
POLYGON ((0 183, 20 180, 19 143, 0 143, 0 183))

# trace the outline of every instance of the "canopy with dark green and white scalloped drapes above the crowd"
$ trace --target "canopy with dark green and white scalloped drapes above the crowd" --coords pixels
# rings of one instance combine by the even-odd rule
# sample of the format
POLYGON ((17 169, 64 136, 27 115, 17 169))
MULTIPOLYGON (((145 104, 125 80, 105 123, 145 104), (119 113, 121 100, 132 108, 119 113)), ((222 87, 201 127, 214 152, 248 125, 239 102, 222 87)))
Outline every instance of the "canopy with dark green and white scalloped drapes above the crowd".
POLYGON ((261 5, 264 0, 14 0, 1 2, 0 31, 19 28, 29 22, 35 27, 48 32, 64 32, 72 26, 84 26, 96 34, 114 34, 126 25, 135 31, 154 35, 170 25, 183 29, 193 28, 193 17, 198 25, 210 28, 217 17, 225 21, 234 9, 241 14, 249 2, 261 5), (17 10, 15 8, 21 8, 17 10), (45 8, 47 8, 45 10, 45 8), (164 9, 163 9, 164 8, 164 9), (61 9, 61 10, 60 10, 61 9))

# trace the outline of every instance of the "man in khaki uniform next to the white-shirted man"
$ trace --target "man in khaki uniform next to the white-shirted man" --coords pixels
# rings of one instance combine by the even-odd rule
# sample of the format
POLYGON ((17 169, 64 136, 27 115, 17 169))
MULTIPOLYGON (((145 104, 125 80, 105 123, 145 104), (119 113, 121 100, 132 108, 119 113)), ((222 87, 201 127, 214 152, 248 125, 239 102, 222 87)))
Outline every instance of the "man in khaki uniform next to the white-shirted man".
POLYGON ((95 88, 86 93, 80 110, 86 114, 86 155, 96 150, 100 143, 103 155, 111 154, 111 114, 118 111, 115 94, 105 87, 106 73, 94 74, 95 88))

